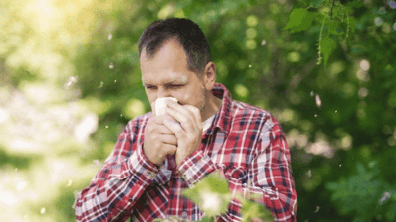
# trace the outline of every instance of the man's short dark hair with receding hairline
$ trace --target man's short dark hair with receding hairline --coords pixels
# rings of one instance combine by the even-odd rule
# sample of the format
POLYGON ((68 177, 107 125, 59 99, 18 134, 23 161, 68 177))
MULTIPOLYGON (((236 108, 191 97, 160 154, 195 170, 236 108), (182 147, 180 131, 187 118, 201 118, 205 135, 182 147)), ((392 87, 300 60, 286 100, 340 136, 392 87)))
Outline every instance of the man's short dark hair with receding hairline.
POLYGON ((189 19, 168 18, 152 22, 139 38, 139 58, 145 48, 148 58, 152 58, 162 45, 175 38, 184 48, 188 68, 202 73, 211 61, 210 47, 199 26, 189 19))

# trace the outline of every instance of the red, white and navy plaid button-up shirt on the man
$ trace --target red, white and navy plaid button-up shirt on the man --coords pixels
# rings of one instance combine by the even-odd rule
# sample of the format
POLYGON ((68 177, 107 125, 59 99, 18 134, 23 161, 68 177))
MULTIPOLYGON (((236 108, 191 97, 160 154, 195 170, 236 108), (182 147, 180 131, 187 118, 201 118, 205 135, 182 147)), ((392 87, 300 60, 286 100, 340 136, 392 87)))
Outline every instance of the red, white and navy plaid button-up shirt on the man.
MULTIPOLYGON (((77 221, 150 222, 170 216, 200 220, 204 213, 180 191, 220 171, 232 193, 262 194, 255 201, 265 204, 277 221, 295 222, 297 193, 281 126, 270 113, 231 100, 221 84, 212 92, 223 103, 203 133, 200 148, 179 167, 174 156, 168 156, 159 169, 145 157, 144 131, 151 113, 131 120, 76 200, 77 221)), ((217 221, 241 221, 240 208, 238 201, 231 201, 217 221)))

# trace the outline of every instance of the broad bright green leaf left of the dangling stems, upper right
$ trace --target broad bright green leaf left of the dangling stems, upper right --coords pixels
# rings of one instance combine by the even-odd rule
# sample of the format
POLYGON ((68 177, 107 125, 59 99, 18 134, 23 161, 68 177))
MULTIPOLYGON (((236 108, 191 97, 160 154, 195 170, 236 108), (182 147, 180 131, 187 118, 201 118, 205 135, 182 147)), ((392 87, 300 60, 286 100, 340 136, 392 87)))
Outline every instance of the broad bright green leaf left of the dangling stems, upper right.
POLYGON ((289 15, 289 22, 284 29, 290 29, 291 33, 308 29, 313 21, 313 14, 304 8, 295 8, 289 15))

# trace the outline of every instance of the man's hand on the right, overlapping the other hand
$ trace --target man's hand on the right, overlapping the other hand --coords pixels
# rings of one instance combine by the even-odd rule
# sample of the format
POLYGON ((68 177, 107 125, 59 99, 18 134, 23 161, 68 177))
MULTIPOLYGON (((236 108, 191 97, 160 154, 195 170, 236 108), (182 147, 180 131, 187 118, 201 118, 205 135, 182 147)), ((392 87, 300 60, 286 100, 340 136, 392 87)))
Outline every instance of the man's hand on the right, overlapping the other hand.
POLYGON ((179 166, 187 156, 199 149, 202 142, 201 113, 192 105, 179 105, 173 101, 168 101, 167 106, 166 114, 178 122, 164 120, 164 125, 177 138, 175 161, 179 166))

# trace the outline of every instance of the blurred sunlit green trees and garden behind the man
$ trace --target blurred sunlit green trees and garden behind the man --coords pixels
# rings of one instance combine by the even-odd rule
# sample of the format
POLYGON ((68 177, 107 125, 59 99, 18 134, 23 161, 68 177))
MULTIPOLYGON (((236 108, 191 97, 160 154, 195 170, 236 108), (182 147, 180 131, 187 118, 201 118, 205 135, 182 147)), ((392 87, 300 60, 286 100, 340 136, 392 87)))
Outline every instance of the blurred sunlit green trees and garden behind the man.
POLYGON ((217 81, 281 122, 299 222, 396 220, 394 0, 1 0, 0 217, 73 222, 133 117, 137 41, 158 18, 203 29, 217 81))

